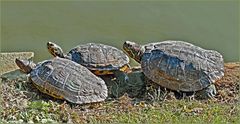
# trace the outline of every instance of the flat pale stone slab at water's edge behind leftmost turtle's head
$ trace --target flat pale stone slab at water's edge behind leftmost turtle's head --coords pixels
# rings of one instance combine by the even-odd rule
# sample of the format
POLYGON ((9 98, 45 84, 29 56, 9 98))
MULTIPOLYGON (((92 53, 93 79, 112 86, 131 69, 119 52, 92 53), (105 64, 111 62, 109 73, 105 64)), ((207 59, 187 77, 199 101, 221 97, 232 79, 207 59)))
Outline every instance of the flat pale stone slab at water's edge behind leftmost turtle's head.
POLYGON ((9 52, 0 53, 0 75, 19 69, 15 64, 15 59, 30 59, 34 57, 33 52, 9 52))

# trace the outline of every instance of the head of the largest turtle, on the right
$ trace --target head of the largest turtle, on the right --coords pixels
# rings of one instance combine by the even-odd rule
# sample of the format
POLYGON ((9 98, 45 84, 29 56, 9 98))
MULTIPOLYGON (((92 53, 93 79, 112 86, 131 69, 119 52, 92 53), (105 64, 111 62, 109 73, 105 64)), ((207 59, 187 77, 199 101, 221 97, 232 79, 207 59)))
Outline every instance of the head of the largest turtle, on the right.
POLYGON ((140 63, 142 54, 144 52, 144 49, 141 45, 135 42, 125 41, 123 44, 123 50, 128 54, 128 56, 140 63))

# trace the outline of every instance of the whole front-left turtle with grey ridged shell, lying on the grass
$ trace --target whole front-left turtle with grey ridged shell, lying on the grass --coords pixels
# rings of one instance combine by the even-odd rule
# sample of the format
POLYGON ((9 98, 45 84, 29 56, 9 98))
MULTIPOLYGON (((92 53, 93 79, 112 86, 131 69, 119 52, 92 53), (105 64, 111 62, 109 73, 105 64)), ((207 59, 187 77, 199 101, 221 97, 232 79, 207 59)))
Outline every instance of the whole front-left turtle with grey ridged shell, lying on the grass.
POLYGON ((16 59, 15 63, 41 92, 75 104, 104 101, 108 95, 105 82, 82 65, 64 58, 33 63, 16 59))

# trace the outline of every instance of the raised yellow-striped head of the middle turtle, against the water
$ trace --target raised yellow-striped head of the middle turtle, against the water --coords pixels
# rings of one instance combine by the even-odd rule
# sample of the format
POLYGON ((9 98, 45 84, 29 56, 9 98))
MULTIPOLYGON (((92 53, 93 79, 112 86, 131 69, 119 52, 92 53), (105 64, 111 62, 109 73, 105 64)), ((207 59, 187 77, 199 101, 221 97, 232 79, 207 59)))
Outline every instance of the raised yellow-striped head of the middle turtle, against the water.
POLYGON ((64 58, 63 50, 60 46, 53 42, 47 43, 48 52, 51 53, 54 57, 64 58))

